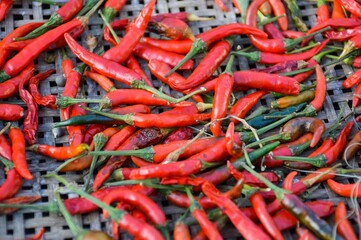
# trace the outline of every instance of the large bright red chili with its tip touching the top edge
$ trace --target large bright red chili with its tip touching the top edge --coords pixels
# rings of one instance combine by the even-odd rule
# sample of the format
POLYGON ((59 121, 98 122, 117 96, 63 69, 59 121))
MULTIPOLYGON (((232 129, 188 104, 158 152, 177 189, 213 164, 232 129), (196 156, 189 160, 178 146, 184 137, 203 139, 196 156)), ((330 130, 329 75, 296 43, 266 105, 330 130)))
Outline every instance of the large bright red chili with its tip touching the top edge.
POLYGON ((120 43, 106 51, 103 55, 104 58, 117 63, 123 63, 128 59, 147 29, 155 3, 156 0, 149 1, 147 6, 145 6, 139 15, 128 25, 128 31, 120 43))

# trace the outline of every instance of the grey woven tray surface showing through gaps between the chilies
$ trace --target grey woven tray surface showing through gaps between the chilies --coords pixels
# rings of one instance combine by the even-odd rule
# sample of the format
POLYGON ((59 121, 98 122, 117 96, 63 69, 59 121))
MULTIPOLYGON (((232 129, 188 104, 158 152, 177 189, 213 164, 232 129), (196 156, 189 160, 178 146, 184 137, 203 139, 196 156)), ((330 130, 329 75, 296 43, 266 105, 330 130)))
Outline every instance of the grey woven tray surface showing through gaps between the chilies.
MULTIPOLYGON (((64 1, 59 1, 64 2, 64 1)), ((189 13, 195 13, 198 16, 204 17, 215 17, 215 20, 207 22, 192 22, 190 26, 195 34, 206 31, 212 27, 236 22, 239 14, 234 11, 231 5, 231 0, 226 0, 227 7, 230 9, 229 12, 222 12, 217 6, 215 6, 213 0, 158 0, 155 13, 168 13, 168 12, 179 12, 187 11, 189 13)), ((302 9, 302 16, 308 25, 313 25, 316 21, 315 18, 315 4, 312 2, 299 1, 299 5, 302 9)), ((136 16, 144 6, 144 1, 140 0, 129 0, 126 6, 122 9, 119 14, 120 18, 136 16)), ((9 11, 8 16, 4 22, 0 24, 0 38, 5 37, 14 28, 27 23, 29 21, 39 21, 49 18, 49 16, 57 9, 56 6, 42 5, 38 2, 31 2, 28 0, 16 1, 13 8, 9 11)), ((293 25, 291 24, 291 28, 293 25)), ((98 16, 91 18, 90 25, 87 28, 85 34, 83 34, 81 41, 84 43, 85 36, 93 34, 95 36, 101 36, 102 21, 98 16)), ((247 38, 241 38, 237 40, 237 44, 246 46, 249 44, 247 38)), ((107 44, 105 44, 107 46, 107 44)), ((70 51, 68 50, 69 55, 70 51)), ((74 56, 71 55, 73 60, 74 56)), ((78 60, 77 60, 78 61, 78 60)), ((237 58, 235 62, 236 69, 248 69, 250 67, 262 68, 262 65, 249 64, 244 58, 237 58)), ((146 68, 145 62, 142 62, 142 66, 146 73, 150 77, 149 70, 146 68)), ((61 68, 61 52, 47 52, 40 55, 37 59, 36 68, 38 71, 44 71, 46 69, 55 68, 56 74, 53 74, 47 80, 42 81, 40 84, 40 91, 45 94, 57 94, 62 92, 61 84, 56 83, 56 79, 62 75, 61 68), (46 63, 45 59, 48 55, 55 56, 55 63, 46 63)), ((352 67, 349 66, 338 66, 335 71, 331 71, 333 76, 350 75, 353 71, 352 67)), ((155 80, 155 85, 160 86, 160 82, 155 80)), ((101 90, 98 90, 94 83, 87 81, 87 95, 93 97, 99 97, 103 94, 101 90)), ((165 91, 169 91, 165 88, 165 91)), ((248 91, 252 92, 252 91, 248 91)), ((330 125, 336 119, 337 113, 344 102, 348 102, 346 112, 351 111, 349 105, 351 105, 352 92, 349 90, 342 89, 341 82, 335 81, 328 84, 328 95, 324 105, 324 110, 319 113, 318 117, 325 121, 327 125, 330 125)), ((246 92, 239 93, 240 96, 246 94, 246 92)), ((263 99, 260 104, 270 106, 272 97, 263 99)), ((10 99, 3 100, 2 102, 17 103, 23 107, 26 107, 19 97, 11 97, 10 99)), ((360 112, 361 109, 357 109, 360 112)), ((49 110, 46 108, 40 108, 39 111, 39 133, 38 142, 47 143, 49 145, 62 145, 67 143, 67 136, 59 135, 54 136, 52 132, 52 123, 59 121, 59 111, 49 110)), ((20 125, 22 123, 20 122, 20 125)), ((2 126, 2 123, 0 124, 2 126)), ((355 132, 356 127, 353 129, 355 132)), ((46 203, 53 199, 53 191, 58 186, 58 183, 53 180, 41 178, 42 174, 47 173, 49 170, 53 170, 59 163, 52 159, 44 158, 39 155, 27 152, 29 168, 34 175, 34 180, 24 181, 22 190, 18 195, 40 195, 42 199, 40 202, 46 203)), ((355 167, 358 167, 357 165, 355 167)), ((67 173, 67 178, 77 179, 80 174, 67 173)), ((3 182, 4 172, 0 170, 0 184, 3 182)), ((345 180, 346 182, 347 180, 345 180)), ((67 197, 75 197, 75 194, 68 193, 67 197)), ((311 195, 312 199, 331 199, 335 203, 340 201, 340 198, 332 193, 328 187, 323 184, 320 188, 311 195)), ((177 208, 173 205, 168 205, 164 199, 157 199, 157 202, 165 210, 167 217, 170 221, 175 221, 183 209, 177 208)), ((350 201, 347 200, 350 204, 350 201)), ((100 212, 94 212, 83 216, 75 216, 76 221, 87 229, 103 229, 110 230, 110 224, 102 219, 100 212)), ((37 232, 41 227, 46 228, 44 239, 71 239, 72 234, 66 227, 66 223, 62 217, 56 214, 49 214, 46 212, 39 212, 33 210, 20 210, 12 215, 0 215, 0 239, 23 239, 31 236, 37 232)), ((197 227, 192 227, 192 232, 195 233, 197 227)), ((234 228, 228 227, 222 231, 223 235, 227 239, 238 239, 239 234, 234 228)), ((291 239, 294 236, 292 233, 285 233, 286 236, 291 239)), ((128 237, 124 237, 128 238, 128 237)))

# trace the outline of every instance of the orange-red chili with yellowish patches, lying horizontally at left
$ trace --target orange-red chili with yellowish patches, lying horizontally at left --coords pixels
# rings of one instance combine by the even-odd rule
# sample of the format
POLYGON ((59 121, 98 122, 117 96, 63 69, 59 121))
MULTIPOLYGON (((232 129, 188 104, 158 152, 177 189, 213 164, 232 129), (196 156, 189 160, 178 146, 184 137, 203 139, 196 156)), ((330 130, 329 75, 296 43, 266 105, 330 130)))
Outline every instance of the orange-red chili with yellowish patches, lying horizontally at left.
POLYGON ((85 151, 88 151, 89 145, 82 143, 79 145, 72 145, 72 146, 53 147, 46 144, 35 144, 32 145, 29 148, 29 150, 56 160, 66 160, 69 158, 76 157, 85 151))

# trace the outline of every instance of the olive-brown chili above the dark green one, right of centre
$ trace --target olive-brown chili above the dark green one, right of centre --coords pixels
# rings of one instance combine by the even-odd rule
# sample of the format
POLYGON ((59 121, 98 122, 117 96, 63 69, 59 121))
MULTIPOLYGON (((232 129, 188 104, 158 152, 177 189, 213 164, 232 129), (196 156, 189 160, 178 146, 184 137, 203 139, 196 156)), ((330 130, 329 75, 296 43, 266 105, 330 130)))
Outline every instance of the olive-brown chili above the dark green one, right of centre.
POLYGON ((315 97, 315 91, 306 90, 301 92, 298 96, 285 96, 278 98, 271 102, 272 108, 287 108, 290 106, 298 105, 304 102, 313 100, 315 97))

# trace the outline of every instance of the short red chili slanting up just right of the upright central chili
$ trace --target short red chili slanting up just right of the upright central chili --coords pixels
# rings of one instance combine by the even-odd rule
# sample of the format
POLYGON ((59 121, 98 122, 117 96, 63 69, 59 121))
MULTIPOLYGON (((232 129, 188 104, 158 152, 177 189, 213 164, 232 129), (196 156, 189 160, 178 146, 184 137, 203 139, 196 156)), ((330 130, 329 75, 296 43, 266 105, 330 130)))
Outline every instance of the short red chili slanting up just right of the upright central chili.
MULTIPOLYGON (((235 72, 235 78, 236 75, 238 75, 237 72, 235 72)), ((239 118, 244 118, 247 113, 253 108, 253 106, 256 105, 256 103, 267 93, 268 92, 261 90, 240 98, 229 110, 229 114, 232 114, 239 118)), ((231 119, 231 121, 234 123, 238 122, 236 119, 231 119)))

